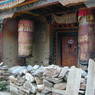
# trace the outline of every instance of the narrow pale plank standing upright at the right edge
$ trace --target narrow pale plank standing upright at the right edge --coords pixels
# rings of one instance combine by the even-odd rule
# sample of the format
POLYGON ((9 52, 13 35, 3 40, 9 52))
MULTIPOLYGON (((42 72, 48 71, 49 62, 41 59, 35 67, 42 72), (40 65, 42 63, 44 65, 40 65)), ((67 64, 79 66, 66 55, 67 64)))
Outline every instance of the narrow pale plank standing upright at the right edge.
POLYGON ((88 79, 85 95, 95 95, 95 62, 90 59, 88 66, 88 79))

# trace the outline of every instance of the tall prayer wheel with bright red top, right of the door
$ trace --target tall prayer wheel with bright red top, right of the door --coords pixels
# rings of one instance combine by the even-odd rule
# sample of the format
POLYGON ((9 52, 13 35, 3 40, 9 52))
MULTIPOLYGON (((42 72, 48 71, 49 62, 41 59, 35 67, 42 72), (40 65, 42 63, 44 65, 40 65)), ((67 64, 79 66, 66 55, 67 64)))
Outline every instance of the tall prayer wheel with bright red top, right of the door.
POLYGON ((94 9, 80 9, 79 20, 79 59, 87 64, 89 58, 95 57, 95 17, 94 9))

